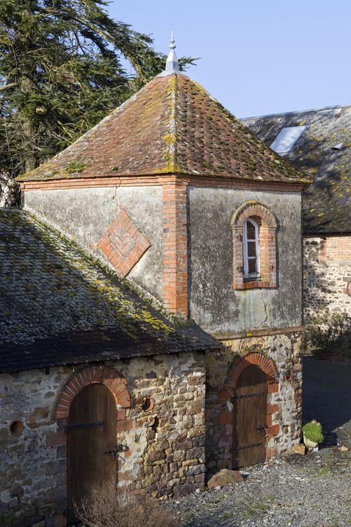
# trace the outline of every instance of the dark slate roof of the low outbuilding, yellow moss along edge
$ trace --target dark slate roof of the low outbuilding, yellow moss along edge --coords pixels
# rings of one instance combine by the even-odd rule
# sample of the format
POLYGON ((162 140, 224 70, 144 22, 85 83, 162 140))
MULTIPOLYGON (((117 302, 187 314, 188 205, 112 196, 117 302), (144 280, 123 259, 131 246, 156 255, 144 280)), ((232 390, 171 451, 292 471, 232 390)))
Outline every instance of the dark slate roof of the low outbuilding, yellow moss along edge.
POLYGON ((16 209, 0 209, 0 372, 217 349, 16 209))

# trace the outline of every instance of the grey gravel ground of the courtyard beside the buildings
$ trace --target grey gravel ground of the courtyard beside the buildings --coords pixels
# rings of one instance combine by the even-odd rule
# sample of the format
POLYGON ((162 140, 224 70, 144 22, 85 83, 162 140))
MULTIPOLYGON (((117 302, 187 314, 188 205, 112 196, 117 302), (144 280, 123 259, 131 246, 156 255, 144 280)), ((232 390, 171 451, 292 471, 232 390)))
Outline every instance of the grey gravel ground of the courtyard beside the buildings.
POLYGON ((305 358, 303 374, 304 420, 321 421, 322 449, 248 467, 240 484, 165 504, 182 526, 351 526, 351 362, 305 358))

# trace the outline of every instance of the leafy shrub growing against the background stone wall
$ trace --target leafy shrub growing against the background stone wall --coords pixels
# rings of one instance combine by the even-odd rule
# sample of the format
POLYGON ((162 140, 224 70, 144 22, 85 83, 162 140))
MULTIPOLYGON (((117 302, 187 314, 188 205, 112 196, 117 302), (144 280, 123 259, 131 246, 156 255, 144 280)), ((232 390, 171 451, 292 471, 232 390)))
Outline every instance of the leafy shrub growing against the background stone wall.
POLYGON ((341 338, 349 327, 350 318, 346 311, 330 312, 324 309, 306 325, 305 346, 319 359, 342 360, 341 338))

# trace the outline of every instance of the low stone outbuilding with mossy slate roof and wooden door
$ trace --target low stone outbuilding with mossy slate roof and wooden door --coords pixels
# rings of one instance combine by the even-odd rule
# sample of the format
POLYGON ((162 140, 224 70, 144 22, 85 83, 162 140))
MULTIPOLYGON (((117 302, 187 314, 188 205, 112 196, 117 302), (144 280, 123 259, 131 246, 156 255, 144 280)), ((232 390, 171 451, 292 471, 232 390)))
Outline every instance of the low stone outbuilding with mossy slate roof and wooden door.
POLYGON ((159 497, 201 487, 217 342, 24 211, 0 209, 0 233, 1 526, 65 525, 106 479, 159 497))

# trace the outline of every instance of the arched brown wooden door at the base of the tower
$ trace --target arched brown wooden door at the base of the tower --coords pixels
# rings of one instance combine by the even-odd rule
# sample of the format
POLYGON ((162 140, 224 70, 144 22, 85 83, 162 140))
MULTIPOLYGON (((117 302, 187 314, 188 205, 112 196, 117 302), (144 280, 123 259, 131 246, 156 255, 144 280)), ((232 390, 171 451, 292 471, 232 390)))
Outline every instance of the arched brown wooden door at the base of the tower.
POLYGON ((267 379, 258 366, 241 373, 234 395, 233 468, 265 462, 267 379))

